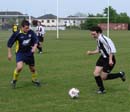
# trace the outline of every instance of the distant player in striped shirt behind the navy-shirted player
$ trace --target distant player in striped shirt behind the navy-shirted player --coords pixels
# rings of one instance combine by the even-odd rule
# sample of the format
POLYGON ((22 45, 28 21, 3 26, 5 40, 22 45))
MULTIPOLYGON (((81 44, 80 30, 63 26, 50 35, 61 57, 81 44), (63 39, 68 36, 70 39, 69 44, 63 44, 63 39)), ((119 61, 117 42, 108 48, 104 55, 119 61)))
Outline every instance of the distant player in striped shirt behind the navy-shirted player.
POLYGON ((39 50, 39 53, 41 54, 43 52, 42 43, 44 42, 45 30, 44 30, 44 27, 41 25, 40 21, 37 22, 36 34, 37 34, 38 40, 39 40, 37 48, 39 50))

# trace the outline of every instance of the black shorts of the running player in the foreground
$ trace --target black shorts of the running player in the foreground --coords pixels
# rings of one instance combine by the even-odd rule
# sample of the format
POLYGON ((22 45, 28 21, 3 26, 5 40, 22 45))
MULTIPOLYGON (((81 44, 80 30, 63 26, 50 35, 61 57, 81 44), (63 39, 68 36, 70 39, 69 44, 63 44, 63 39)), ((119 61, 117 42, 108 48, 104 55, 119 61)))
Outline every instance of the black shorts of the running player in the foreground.
POLYGON ((116 64, 115 56, 112 57, 112 60, 114 64, 110 66, 109 58, 104 58, 103 56, 100 56, 96 62, 96 66, 101 66, 103 67, 103 72, 110 73, 116 64))

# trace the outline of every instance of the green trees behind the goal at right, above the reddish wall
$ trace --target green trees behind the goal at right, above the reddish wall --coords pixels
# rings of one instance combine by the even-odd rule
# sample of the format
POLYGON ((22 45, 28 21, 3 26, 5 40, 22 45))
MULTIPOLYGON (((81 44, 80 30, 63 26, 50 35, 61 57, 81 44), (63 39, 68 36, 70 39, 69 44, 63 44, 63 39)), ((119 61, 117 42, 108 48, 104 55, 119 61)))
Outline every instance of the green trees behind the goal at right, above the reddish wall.
MULTIPOLYGON (((99 23, 107 23, 107 18, 101 19, 98 17, 108 17, 108 8, 103 10, 103 14, 88 14, 88 18, 86 19, 85 23, 82 23, 80 28, 81 29, 90 29, 92 26, 95 26, 99 23)), ((109 6, 109 22, 110 23, 128 23, 130 24, 130 17, 127 13, 117 13, 115 9, 109 6)))

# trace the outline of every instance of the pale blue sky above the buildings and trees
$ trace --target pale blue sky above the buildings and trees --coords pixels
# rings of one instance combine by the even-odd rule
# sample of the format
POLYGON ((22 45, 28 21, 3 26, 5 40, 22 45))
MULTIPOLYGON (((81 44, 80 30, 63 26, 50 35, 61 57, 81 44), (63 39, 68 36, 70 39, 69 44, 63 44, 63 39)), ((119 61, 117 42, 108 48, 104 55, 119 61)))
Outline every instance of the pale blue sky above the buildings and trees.
MULTIPOLYGON (((108 6, 108 0, 0 0, 0 11, 19 11, 34 17, 43 16, 45 14, 58 15, 59 17, 67 17, 78 12, 84 14, 103 13, 108 6)), ((117 11, 117 13, 125 12, 130 16, 130 1, 109 0, 109 5, 117 11)))

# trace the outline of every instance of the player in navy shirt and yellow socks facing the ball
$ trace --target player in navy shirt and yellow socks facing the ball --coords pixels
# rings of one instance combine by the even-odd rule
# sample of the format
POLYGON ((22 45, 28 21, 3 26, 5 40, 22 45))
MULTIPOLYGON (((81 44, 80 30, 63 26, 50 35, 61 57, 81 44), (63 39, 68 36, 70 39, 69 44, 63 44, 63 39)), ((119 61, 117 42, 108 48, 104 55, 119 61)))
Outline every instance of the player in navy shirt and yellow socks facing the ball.
POLYGON ((7 42, 8 47, 8 60, 12 59, 12 46, 16 42, 16 68, 13 72, 13 79, 11 81, 12 87, 16 87, 19 73, 23 69, 24 63, 29 66, 32 73, 32 83, 40 86, 37 79, 37 72, 35 69, 34 53, 37 49, 38 39, 36 34, 29 29, 29 21, 23 20, 21 29, 11 35, 7 42))

